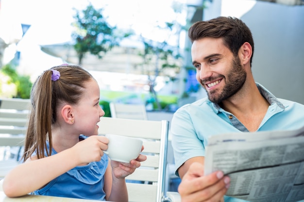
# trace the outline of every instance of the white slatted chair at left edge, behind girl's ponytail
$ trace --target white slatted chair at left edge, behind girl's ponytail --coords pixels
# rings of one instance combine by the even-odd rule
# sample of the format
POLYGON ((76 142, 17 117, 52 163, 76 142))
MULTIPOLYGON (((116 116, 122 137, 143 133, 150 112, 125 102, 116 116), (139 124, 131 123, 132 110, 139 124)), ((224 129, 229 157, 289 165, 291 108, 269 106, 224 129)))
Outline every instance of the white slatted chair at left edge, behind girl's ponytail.
POLYGON ((0 179, 18 165, 30 112, 29 105, 29 99, 0 99, 0 179))

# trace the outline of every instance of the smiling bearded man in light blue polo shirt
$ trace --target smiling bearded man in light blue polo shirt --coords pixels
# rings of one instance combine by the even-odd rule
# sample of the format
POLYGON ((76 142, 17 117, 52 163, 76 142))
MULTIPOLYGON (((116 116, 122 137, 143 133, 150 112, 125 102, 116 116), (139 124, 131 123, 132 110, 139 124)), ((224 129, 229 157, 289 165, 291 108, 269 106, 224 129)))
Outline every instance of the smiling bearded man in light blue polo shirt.
POLYGON ((228 132, 298 129, 304 105, 276 98, 253 79, 253 37, 233 17, 194 23, 188 31, 196 78, 208 97, 178 109, 171 122, 178 188, 183 202, 244 202, 224 197, 228 176, 204 176, 208 137, 228 132), (224 197, 224 198, 223 198, 224 197))

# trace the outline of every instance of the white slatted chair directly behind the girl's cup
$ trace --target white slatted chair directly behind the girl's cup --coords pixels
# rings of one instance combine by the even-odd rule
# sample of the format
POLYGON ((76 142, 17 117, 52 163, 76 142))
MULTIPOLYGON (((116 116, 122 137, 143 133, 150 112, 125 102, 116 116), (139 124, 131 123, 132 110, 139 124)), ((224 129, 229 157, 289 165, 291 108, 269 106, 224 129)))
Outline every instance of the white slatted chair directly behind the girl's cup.
MULTIPOLYGON (((149 183, 127 182, 129 202, 173 202, 164 193, 169 122, 101 117, 98 124, 99 135, 116 134, 144 140, 142 153, 147 155, 147 160, 126 180, 149 183)), ((177 195, 178 199, 178 193, 169 194, 177 195)))

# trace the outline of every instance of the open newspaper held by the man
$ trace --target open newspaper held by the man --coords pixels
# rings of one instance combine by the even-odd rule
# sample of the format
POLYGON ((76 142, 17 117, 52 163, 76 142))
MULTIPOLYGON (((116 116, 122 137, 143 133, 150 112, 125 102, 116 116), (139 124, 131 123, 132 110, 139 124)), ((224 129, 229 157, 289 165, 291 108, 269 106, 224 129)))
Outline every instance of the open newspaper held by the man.
POLYGON ((250 202, 304 200, 304 127, 289 131, 212 136, 204 174, 223 171, 227 196, 250 202))

